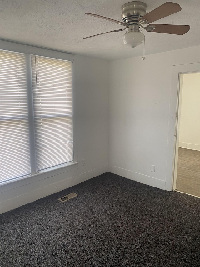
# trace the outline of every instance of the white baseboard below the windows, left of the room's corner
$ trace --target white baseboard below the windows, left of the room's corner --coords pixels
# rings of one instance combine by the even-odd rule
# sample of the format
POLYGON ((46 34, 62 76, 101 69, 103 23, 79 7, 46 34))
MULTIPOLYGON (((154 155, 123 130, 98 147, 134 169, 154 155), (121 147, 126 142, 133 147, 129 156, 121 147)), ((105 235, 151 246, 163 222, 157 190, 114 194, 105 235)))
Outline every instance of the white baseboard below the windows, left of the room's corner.
MULTIPOLYGON (((2 192, 0 200, 2 199, 6 199, 6 200, 0 202, 0 214, 10 211, 12 209, 18 208, 22 205, 31 203, 40 198, 44 198, 53 193, 62 191, 68 187, 72 187, 76 184, 89 180, 105 172, 108 172, 108 165, 99 167, 98 169, 94 169, 88 172, 81 173, 77 176, 65 178, 63 180, 61 180, 61 177, 63 176, 59 176, 59 175, 57 175, 58 177, 54 176, 53 180, 52 180, 52 177, 48 177, 41 181, 35 182, 36 184, 32 188, 36 188, 36 189, 32 191, 30 190, 31 188, 30 184, 28 185, 25 184, 25 185, 20 186, 20 188, 17 187, 17 188, 13 188, 11 190, 2 192), (52 183, 52 181, 58 181, 58 182, 52 183), (13 198, 12 198, 12 195, 14 196, 13 198)), ((60 175, 63 175, 63 174, 60 174, 60 175)))

